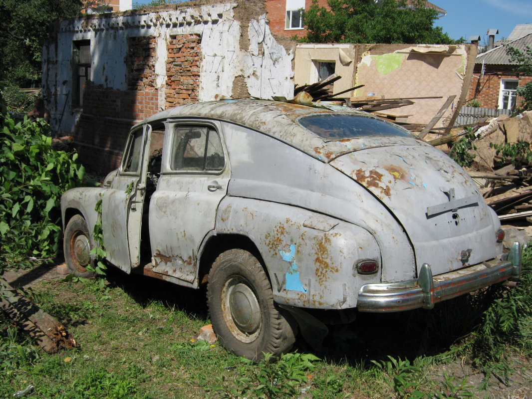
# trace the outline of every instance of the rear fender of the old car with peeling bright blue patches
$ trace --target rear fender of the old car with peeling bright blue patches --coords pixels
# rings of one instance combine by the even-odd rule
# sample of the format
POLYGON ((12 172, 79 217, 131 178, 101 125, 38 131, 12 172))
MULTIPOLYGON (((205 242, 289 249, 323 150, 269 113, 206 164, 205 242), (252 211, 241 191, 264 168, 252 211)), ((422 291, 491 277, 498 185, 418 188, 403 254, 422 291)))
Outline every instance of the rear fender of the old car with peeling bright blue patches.
POLYGON ((354 269, 361 260, 382 263, 375 238, 351 223, 295 206, 226 197, 215 229, 252 240, 279 304, 348 309, 356 306, 360 287, 380 282, 380 267, 373 275, 354 269))

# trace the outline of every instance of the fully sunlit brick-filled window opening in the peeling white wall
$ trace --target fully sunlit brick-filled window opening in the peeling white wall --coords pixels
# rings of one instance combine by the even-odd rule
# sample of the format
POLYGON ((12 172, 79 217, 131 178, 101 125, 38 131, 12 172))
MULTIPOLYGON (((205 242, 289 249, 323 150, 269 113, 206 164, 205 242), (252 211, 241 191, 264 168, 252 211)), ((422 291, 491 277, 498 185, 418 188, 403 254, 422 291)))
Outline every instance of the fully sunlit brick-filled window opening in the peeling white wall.
POLYGON ((200 43, 200 35, 176 35, 169 40, 165 90, 167 108, 198 101, 200 43))

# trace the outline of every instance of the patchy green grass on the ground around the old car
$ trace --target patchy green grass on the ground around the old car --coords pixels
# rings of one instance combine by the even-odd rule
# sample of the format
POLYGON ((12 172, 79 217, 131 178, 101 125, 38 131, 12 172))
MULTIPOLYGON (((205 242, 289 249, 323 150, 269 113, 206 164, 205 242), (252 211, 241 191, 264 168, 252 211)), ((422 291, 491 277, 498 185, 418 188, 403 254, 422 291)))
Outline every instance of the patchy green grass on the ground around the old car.
MULTIPOLYGON (((103 288, 98 280, 55 281, 26 295, 59 319, 80 347, 46 354, 0 315, 0 398, 29 385, 35 388, 27 397, 69 399, 281 398, 302 390, 298 396, 312 399, 446 397, 461 386, 464 364, 473 374, 486 373, 489 389, 497 383, 494 376, 509 381, 514 370, 526 376, 532 369, 529 315, 505 331, 490 325, 500 339, 482 337, 478 326, 493 323, 485 320, 487 310, 511 316, 487 299, 492 294, 457 298, 433 311, 359 314, 351 325, 330 328, 323 352, 313 352, 300 337, 295 356, 256 365, 218 344, 195 341, 200 327, 210 323, 202 292, 117 270, 109 272, 103 288), (504 353, 505 359, 493 361, 493 353, 478 351, 504 353)), ((517 303, 527 295, 521 288, 502 290, 496 298, 517 303)), ((529 380, 508 389, 529 386, 529 380)), ((468 392, 493 396, 464 388, 451 397, 468 392)))

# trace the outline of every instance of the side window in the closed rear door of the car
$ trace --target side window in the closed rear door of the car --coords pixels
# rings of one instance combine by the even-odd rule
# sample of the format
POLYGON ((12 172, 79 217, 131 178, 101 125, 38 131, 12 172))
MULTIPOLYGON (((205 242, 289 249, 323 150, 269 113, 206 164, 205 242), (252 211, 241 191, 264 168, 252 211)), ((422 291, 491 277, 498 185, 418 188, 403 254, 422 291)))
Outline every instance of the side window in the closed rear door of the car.
POLYGON ((209 126, 181 125, 174 130, 172 170, 220 171, 225 167, 218 132, 209 126))

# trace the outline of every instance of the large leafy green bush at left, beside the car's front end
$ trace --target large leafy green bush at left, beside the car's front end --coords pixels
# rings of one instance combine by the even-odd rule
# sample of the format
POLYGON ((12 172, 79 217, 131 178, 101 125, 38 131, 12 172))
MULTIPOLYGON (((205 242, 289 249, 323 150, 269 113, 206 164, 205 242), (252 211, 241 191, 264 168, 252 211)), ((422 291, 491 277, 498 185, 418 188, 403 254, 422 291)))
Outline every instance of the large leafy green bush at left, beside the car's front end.
MULTIPOLYGON (((61 194, 81 185, 77 154, 55 151, 43 120, 15 121, 0 86, 0 268, 17 256, 47 257, 60 249, 61 194)), ((1 271, 1 270, 0 270, 1 271)))

